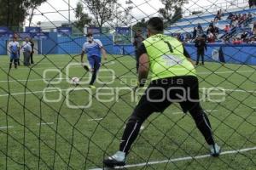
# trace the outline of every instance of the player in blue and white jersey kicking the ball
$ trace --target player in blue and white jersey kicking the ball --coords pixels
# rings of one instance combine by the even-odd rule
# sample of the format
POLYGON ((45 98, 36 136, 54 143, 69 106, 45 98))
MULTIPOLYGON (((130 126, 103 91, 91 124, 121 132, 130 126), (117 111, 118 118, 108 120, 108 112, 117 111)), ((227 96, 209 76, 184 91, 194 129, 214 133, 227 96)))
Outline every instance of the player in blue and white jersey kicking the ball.
MULTIPOLYGON (((107 54, 105 49, 103 48, 102 42, 98 39, 94 39, 91 33, 86 35, 87 42, 84 42, 83 50, 81 54, 81 62, 84 64, 84 54, 87 54, 87 59, 90 64, 90 71, 92 72, 92 77, 90 80, 89 87, 96 88, 93 84, 96 81, 96 74, 99 71, 102 61, 102 55, 104 59, 107 59, 107 54)), ((89 70, 86 65, 84 65, 84 69, 89 70)))

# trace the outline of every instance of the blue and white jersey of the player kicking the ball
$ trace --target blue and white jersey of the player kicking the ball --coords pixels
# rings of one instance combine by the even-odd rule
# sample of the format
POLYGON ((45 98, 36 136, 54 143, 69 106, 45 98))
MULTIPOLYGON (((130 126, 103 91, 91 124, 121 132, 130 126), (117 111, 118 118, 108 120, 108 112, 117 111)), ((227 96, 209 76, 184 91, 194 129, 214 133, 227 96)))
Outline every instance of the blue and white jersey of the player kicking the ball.
POLYGON ((85 42, 83 45, 83 51, 86 52, 87 57, 99 57, 102 58, 102 42, 98 39, 93 40, 93 42, 85 42))

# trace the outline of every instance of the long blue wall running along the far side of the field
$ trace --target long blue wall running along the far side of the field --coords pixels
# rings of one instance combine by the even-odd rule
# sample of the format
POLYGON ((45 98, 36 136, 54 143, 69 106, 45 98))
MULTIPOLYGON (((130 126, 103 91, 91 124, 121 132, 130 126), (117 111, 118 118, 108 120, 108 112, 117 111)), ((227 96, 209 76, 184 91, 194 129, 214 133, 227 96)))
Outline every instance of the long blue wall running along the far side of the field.
MULTIPOLYGON (((95 36, 100 39, 108 54, 135 55, 135 48, 132 45, 113 45, 113 37, 95 36)), ((57 37, 57 33, 50 32, 48 39, 38 41, 38 51, 41 54, 80 54, 82 46, 86 41, 85 37, 57 37)), ((194 44, 185 44, 192 59, 196 59, 196 48, 194 44)), ((212 59, 214 53, 218 53, 222 48, 226 63, 256 65, 256 44, 207 44, 206 61, 215 61, 212 59)), ((0 40, 0 54, 7 54, 6 40, 0 40)))

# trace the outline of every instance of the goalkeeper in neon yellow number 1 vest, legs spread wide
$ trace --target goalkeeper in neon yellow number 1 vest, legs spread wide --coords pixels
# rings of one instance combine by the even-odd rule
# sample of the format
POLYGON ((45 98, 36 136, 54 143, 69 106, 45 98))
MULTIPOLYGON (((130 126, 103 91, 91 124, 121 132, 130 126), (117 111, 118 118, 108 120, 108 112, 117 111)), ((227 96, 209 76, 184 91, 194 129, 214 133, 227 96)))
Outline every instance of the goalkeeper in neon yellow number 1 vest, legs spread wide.
POLYGON ((148 20, 149 37, 139 48, 138 87, 143 87, 149 71, 152 79, 126 123, 119 151, 103 161, 106 167, 124 166, 131 144, 137 139, 143 122, 153 112, 163 112, 174 102, 181 105, 183 112, 189 111, 209 145, 210 154, 220 154, 220 147, 212 136, 211 124, 199 103, 195 67, 188 59, 183 44, 173 37, 163 35, 163 30, 163 20, 158 17, 148 20), (184 99, 181 96, 186 97, 184 99))

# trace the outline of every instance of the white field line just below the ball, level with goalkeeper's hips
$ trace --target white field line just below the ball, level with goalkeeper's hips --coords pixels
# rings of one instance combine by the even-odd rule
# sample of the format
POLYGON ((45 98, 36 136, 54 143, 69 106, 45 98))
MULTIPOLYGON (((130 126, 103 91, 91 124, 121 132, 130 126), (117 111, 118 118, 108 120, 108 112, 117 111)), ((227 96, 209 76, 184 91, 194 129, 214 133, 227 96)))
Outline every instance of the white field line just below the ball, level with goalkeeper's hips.
MULTIPOLYGON (((199 88, 200 90, 207 90, 207 89, 212 89, 212 88, 199 88)), ((256 90, 241 90, 241 89, 225 89, 225 88, 222 88, 223 90, 225 91, 230 91, 230 92, 241 92, 241 93, 253 93, 253 94, 256 94, 256 90)), ((221 90, 222 90, 221 89, 221 90)), ((46 92, 58 92, 59 90, 63 91, 63 92, 66 92, 67 89, 52 89, 52 90, 47 90, 46 92)), ((32 91, 32 92, 21 92, 21 93, 15 93, 15 94, 10 94, 10 95, 22 95, 22 94, 41 94, 41 93, 44 93, 45 91, 32 91)), ((6 97, 6 96, 9 96, 9 94, 0 94, 0 97, 6 97)))

